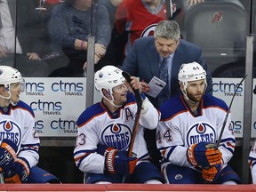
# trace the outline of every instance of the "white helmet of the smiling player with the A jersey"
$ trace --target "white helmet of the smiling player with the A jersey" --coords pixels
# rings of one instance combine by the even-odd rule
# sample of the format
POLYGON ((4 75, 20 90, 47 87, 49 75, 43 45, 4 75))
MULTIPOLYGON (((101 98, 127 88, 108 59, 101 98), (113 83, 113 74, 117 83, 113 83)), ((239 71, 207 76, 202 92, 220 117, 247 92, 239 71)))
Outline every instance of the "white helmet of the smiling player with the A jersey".
POLYGON ((119 84, 123 84, 125 81, 125 78, 122 75, 122 72, 123 71, 120 68, 116 68, 115 66, 108 65, 101 68, 95 73, 95 76, 94 76, 95 88, 98 92, 100 92, 102 97, 104 97, 106 100, 108 100, 108 98, 104 96, 102 89, 106 89, 108 91, 108 94, 112 97, 112 100, 109 100, 109 101, 113 102, 114 101, 114 98, 112 96, 113 87, 116 87, 119 84))

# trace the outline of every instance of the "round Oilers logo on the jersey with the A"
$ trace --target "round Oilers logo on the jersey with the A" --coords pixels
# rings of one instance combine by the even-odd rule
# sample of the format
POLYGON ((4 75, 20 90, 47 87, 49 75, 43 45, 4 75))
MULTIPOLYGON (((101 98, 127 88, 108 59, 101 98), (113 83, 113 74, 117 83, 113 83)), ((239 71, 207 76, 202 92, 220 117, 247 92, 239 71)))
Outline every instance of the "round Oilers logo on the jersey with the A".
POLYGON ((125 150, 131 142, 132 132, 125 124, 108 124, 103 129, 101 140, 108 147, 125 150))

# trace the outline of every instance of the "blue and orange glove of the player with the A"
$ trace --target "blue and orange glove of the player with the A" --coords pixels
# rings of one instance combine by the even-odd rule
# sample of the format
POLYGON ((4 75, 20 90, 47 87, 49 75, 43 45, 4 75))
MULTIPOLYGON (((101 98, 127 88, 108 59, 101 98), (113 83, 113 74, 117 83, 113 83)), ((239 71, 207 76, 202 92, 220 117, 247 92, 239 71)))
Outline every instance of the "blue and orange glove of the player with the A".
POLYGON ((105 170, 110 174, 132 174, 138 158, 128 157, 124 151, 110 150, 105 157, 105 170))

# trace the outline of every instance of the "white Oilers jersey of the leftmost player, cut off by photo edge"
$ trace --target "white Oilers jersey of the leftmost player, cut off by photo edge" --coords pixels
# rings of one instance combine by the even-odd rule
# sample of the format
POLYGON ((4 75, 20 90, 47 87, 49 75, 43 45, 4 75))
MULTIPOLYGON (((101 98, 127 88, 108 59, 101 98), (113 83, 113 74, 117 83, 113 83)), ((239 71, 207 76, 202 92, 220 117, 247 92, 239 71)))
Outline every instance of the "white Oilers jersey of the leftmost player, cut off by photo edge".
POLYGON ((19 101, 15 107, 0 107, 0 141, 12 140, 18 147, 18 157, 28 161, 30 167, 38 163, 39 137, 35 129, 35 115, 25 102, 19 101))

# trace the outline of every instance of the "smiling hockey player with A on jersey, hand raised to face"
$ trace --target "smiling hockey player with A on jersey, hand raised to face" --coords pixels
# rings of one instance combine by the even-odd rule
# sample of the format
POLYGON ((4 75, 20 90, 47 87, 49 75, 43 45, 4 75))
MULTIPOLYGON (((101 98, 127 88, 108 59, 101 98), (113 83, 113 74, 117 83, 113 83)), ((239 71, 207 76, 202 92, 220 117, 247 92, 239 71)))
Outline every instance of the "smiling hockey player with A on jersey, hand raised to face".
MULTIPOLYGON (((131 78, 132 88, 141 91, 138 79, 131 78)), ((161 184, 161 173, 148 161, 142 127, 156 128, 159 120, 156 108, 141 94, 140 126, 132 148, 133 156, 127 156, 137 111, 131 86, 122 76, 122 70, 114 66, 97 71, 94 83, 103 98, 86 108, 76 122, 74 159, 76 166, 85 173, 84 183, 121 183, 126 175, 125 182, 161 184)))

